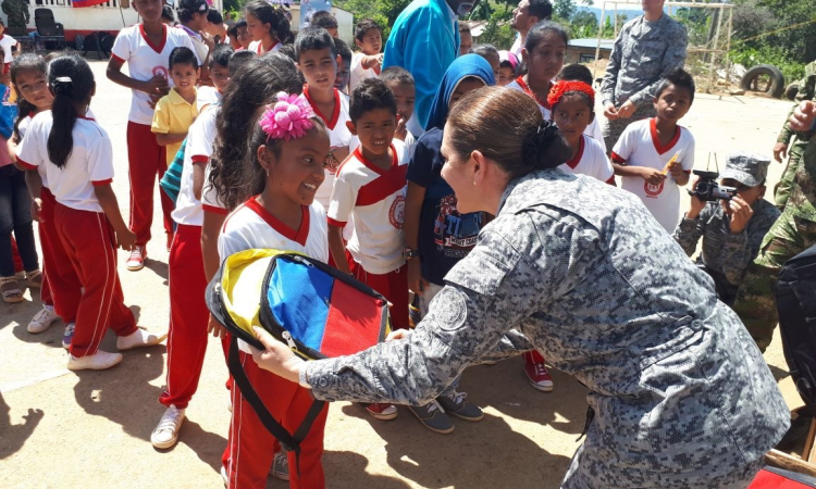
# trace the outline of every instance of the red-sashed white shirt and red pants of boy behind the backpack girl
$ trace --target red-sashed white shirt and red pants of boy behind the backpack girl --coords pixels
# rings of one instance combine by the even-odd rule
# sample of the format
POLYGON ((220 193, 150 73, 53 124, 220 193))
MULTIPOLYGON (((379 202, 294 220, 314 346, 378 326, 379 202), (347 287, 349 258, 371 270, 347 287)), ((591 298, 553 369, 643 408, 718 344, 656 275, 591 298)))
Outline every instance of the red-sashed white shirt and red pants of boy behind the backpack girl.
POLYGON ((329 224, 345 227, 353 220, 354 233, 346 244, 351 273, 393 304, 395 329, 408 328, 408 267, 403 250, 403 218, 408 159, 405 150, 391 146, 391 167, 382 170, 368 161, 360 148, 337 171, 329 224))

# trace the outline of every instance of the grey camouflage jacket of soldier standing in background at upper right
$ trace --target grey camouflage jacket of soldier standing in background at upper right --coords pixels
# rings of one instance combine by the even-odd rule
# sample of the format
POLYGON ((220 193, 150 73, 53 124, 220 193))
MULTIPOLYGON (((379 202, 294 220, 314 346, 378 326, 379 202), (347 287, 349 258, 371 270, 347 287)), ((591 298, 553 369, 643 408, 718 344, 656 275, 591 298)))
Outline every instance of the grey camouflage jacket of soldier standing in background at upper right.
POLYGON ((688 43, 685 27, 666 14, 655 22, 646 22, 643 15, 627 22, 601 84, 604 104, 652 103, 660 79, 683 67, 688 43))

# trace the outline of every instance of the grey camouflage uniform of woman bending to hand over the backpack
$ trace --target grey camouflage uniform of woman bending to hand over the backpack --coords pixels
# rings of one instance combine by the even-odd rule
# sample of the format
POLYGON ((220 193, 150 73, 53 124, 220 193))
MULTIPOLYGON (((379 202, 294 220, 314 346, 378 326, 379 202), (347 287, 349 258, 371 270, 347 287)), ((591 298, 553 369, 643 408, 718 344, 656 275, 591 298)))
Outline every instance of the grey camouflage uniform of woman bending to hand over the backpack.
POLYGON ((309 362, 314 397, 423 404, 468 365, 536 348, 596 413, 565 488, 731 487, 787 430, 739 318, 627 191, 559 170, 515 180, 445 280, 408 338, 309 362))

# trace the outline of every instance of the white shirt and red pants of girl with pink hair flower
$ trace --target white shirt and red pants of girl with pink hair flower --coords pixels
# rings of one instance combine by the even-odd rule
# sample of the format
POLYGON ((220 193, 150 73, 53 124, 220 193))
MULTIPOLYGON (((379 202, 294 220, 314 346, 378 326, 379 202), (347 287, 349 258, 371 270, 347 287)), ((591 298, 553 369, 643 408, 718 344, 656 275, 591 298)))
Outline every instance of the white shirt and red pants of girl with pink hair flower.
MULTIPOLYGON (((319 202, 302 206, 299 229, 292 229, 270 214, 256 198, 230 214, 219 237, 219 254, 225 259, 233 253, 252 249, 272 248, 298 251, 313 259, 329 260, 326 217, 319 202)), ((294 432, 311 408, 313 398, 309 389, 290 383, 260 368, 252 356, 239 352, 240 363, 269 412, 281 425, 294 432)), ((275 454, 275 438, 263 427, 258 415, 240 394, 232 390, 233 417, 230 426, 227 488, 260 489, 267 487, 269 468, 275 454)), ((309 434, 300 443, 300 474, 296 467, 295 453, 289 452, 289 487, 295 489, 323 489, 323 430, 329 408, 314 419, 309 434)))

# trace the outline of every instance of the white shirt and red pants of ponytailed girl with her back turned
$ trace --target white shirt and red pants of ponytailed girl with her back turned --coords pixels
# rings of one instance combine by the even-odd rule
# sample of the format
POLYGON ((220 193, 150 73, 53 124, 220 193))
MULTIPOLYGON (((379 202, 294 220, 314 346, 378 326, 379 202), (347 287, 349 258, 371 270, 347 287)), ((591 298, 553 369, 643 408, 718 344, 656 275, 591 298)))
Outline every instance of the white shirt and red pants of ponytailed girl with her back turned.
POLYGON ((94 191, 94 186, 113 180, 111 140, 96 121, 77 117, 72 131, 73 150, 65 166, 59 168, 48 158, 52 124, 50 111, 34 117, 17 147, 17 161, 30 170, 46 166, 48 185, 57 201, 57 235, 83 287, 70 348, 71 354, 78 358, 95 354, 109 327, 118 336, 136 333, 136 319, 124 304, 116 273, 116 237, 94 191))

